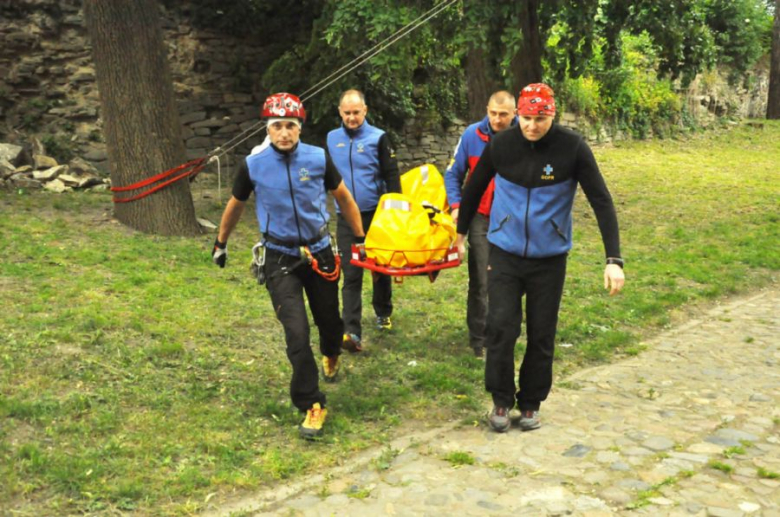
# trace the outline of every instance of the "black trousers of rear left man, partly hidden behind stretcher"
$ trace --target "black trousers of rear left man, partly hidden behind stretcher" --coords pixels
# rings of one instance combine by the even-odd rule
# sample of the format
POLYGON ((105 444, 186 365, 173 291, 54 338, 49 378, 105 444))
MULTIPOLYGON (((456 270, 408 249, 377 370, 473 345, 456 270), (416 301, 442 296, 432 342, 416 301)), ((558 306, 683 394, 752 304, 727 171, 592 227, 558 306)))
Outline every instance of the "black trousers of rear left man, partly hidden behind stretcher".
MULTIPOLYGON (((363 230, 368 232, 371 221, 374 219, 374 212, 361 212, 360 217, 363 220, 363 230)), ((361 336, 363 273, 365 270, 349 263, 352 244, 355 243, 355 234, 352 233, 352 228, 341 214, 339 214, 336 225, 336 239, 339 243, 341 266, 344 271, 344 285, 341 288, 341 298, 344 304, 341 313, 344 318, 344 331, 361 336)), ((377 316, 389 317, 393 314, 392 279, 387 275, 372 274, 371 276, 374 280, 374 291, 371 299, 374 313, 377 316)))

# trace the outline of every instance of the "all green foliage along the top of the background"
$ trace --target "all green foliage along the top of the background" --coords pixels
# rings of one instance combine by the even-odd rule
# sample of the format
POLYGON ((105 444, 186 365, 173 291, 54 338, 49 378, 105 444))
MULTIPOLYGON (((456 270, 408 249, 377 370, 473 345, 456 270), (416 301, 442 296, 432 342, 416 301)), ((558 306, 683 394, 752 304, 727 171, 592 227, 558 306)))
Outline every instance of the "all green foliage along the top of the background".
MULTIPOLYGON (((196 25, 252 37, 277 57, 261 90, 312 93, 310 88, 349 65, 443 0, 304 0, 279 8, 272 0, 198 0, 196 25)), ((464 60, 484 51, 488 81, 517 91, 516 57, 524 48, 521 2, 464 2, 447 9, 345 78, 307 100, 307 132, 317 137, 339 124, 336 105, 347 88, 364 91, 370 120, 399 130, 410 117, 448 121, 466 113, 464 60)), ((642 137, 691 123, 670 81, 685 86, 716 64, 744 75, 769 50, 772 16, 764 0, 550 0, 534 13, 543 44, 545 80, 568 110, 613 122, 642 137)), ((235 87, 249 91, 240 56, 231 64, 235 87)), ((24 124, 35 126, 35 111, 24 124)), ((311 137, 310 137, 311 138, 311 137)))

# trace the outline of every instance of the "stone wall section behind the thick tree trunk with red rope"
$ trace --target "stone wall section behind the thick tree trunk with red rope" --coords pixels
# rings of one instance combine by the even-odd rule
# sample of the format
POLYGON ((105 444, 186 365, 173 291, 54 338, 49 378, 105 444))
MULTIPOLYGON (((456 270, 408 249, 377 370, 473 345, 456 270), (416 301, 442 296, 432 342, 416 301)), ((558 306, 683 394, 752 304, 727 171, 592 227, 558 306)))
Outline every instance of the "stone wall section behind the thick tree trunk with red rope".
MULTIPOLYGON (((251 42, 193 29, 186 8, 161 10, 187 156, 204 156, 257 124, 261 101, 252 86, 269 59, 251 42)), ((57 137, 107 171, 81 1, 0 1, 0 20, 0 141, 57 137)))

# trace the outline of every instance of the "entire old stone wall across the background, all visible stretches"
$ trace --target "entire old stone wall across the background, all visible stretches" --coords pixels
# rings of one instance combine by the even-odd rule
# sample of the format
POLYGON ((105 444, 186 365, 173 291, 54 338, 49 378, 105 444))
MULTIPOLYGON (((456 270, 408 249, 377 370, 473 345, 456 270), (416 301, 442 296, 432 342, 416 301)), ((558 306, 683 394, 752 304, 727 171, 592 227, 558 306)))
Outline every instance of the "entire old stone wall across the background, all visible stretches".
MULTIPOLYGON (((161 14, 187 156, 195 158, 257 127, 265 95, 257 88, 278 51, 194 29, 187 5, 175 11, 161 7, 161 14)), ((26 144, 38 136, 105 173, 99 96, 83 22, 81 0, 0 0, 0 142, 26 144)), ((703 74, 685 92, 689 112, 704 126, 726 115, 763 117, 767 68, 759 67, 749 88, 703 74)), ((559 120, 590 140, 626 137, 574 114, 563 113, 559 120)), ((443 171, 466 125, 410 120, 395 142, 401 170, 428 162, 443 171)), ((238 146, 232 163, 262 136, 238 146)))

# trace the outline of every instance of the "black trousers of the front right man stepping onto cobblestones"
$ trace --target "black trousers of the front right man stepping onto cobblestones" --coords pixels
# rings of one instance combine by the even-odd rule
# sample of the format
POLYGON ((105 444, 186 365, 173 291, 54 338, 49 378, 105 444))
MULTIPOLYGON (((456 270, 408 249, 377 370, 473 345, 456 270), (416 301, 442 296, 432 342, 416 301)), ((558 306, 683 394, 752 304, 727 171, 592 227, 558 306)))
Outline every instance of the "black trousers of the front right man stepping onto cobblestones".
POLYGON ((566 258, 564 253, 527 259, 490 247, 485 387, 496 406, 512 408, 517 400, 520 410, 536 410, 550 393, 566 258), (523 296, 527 344, 515 386, 514 351, 523 321, 523 296))

